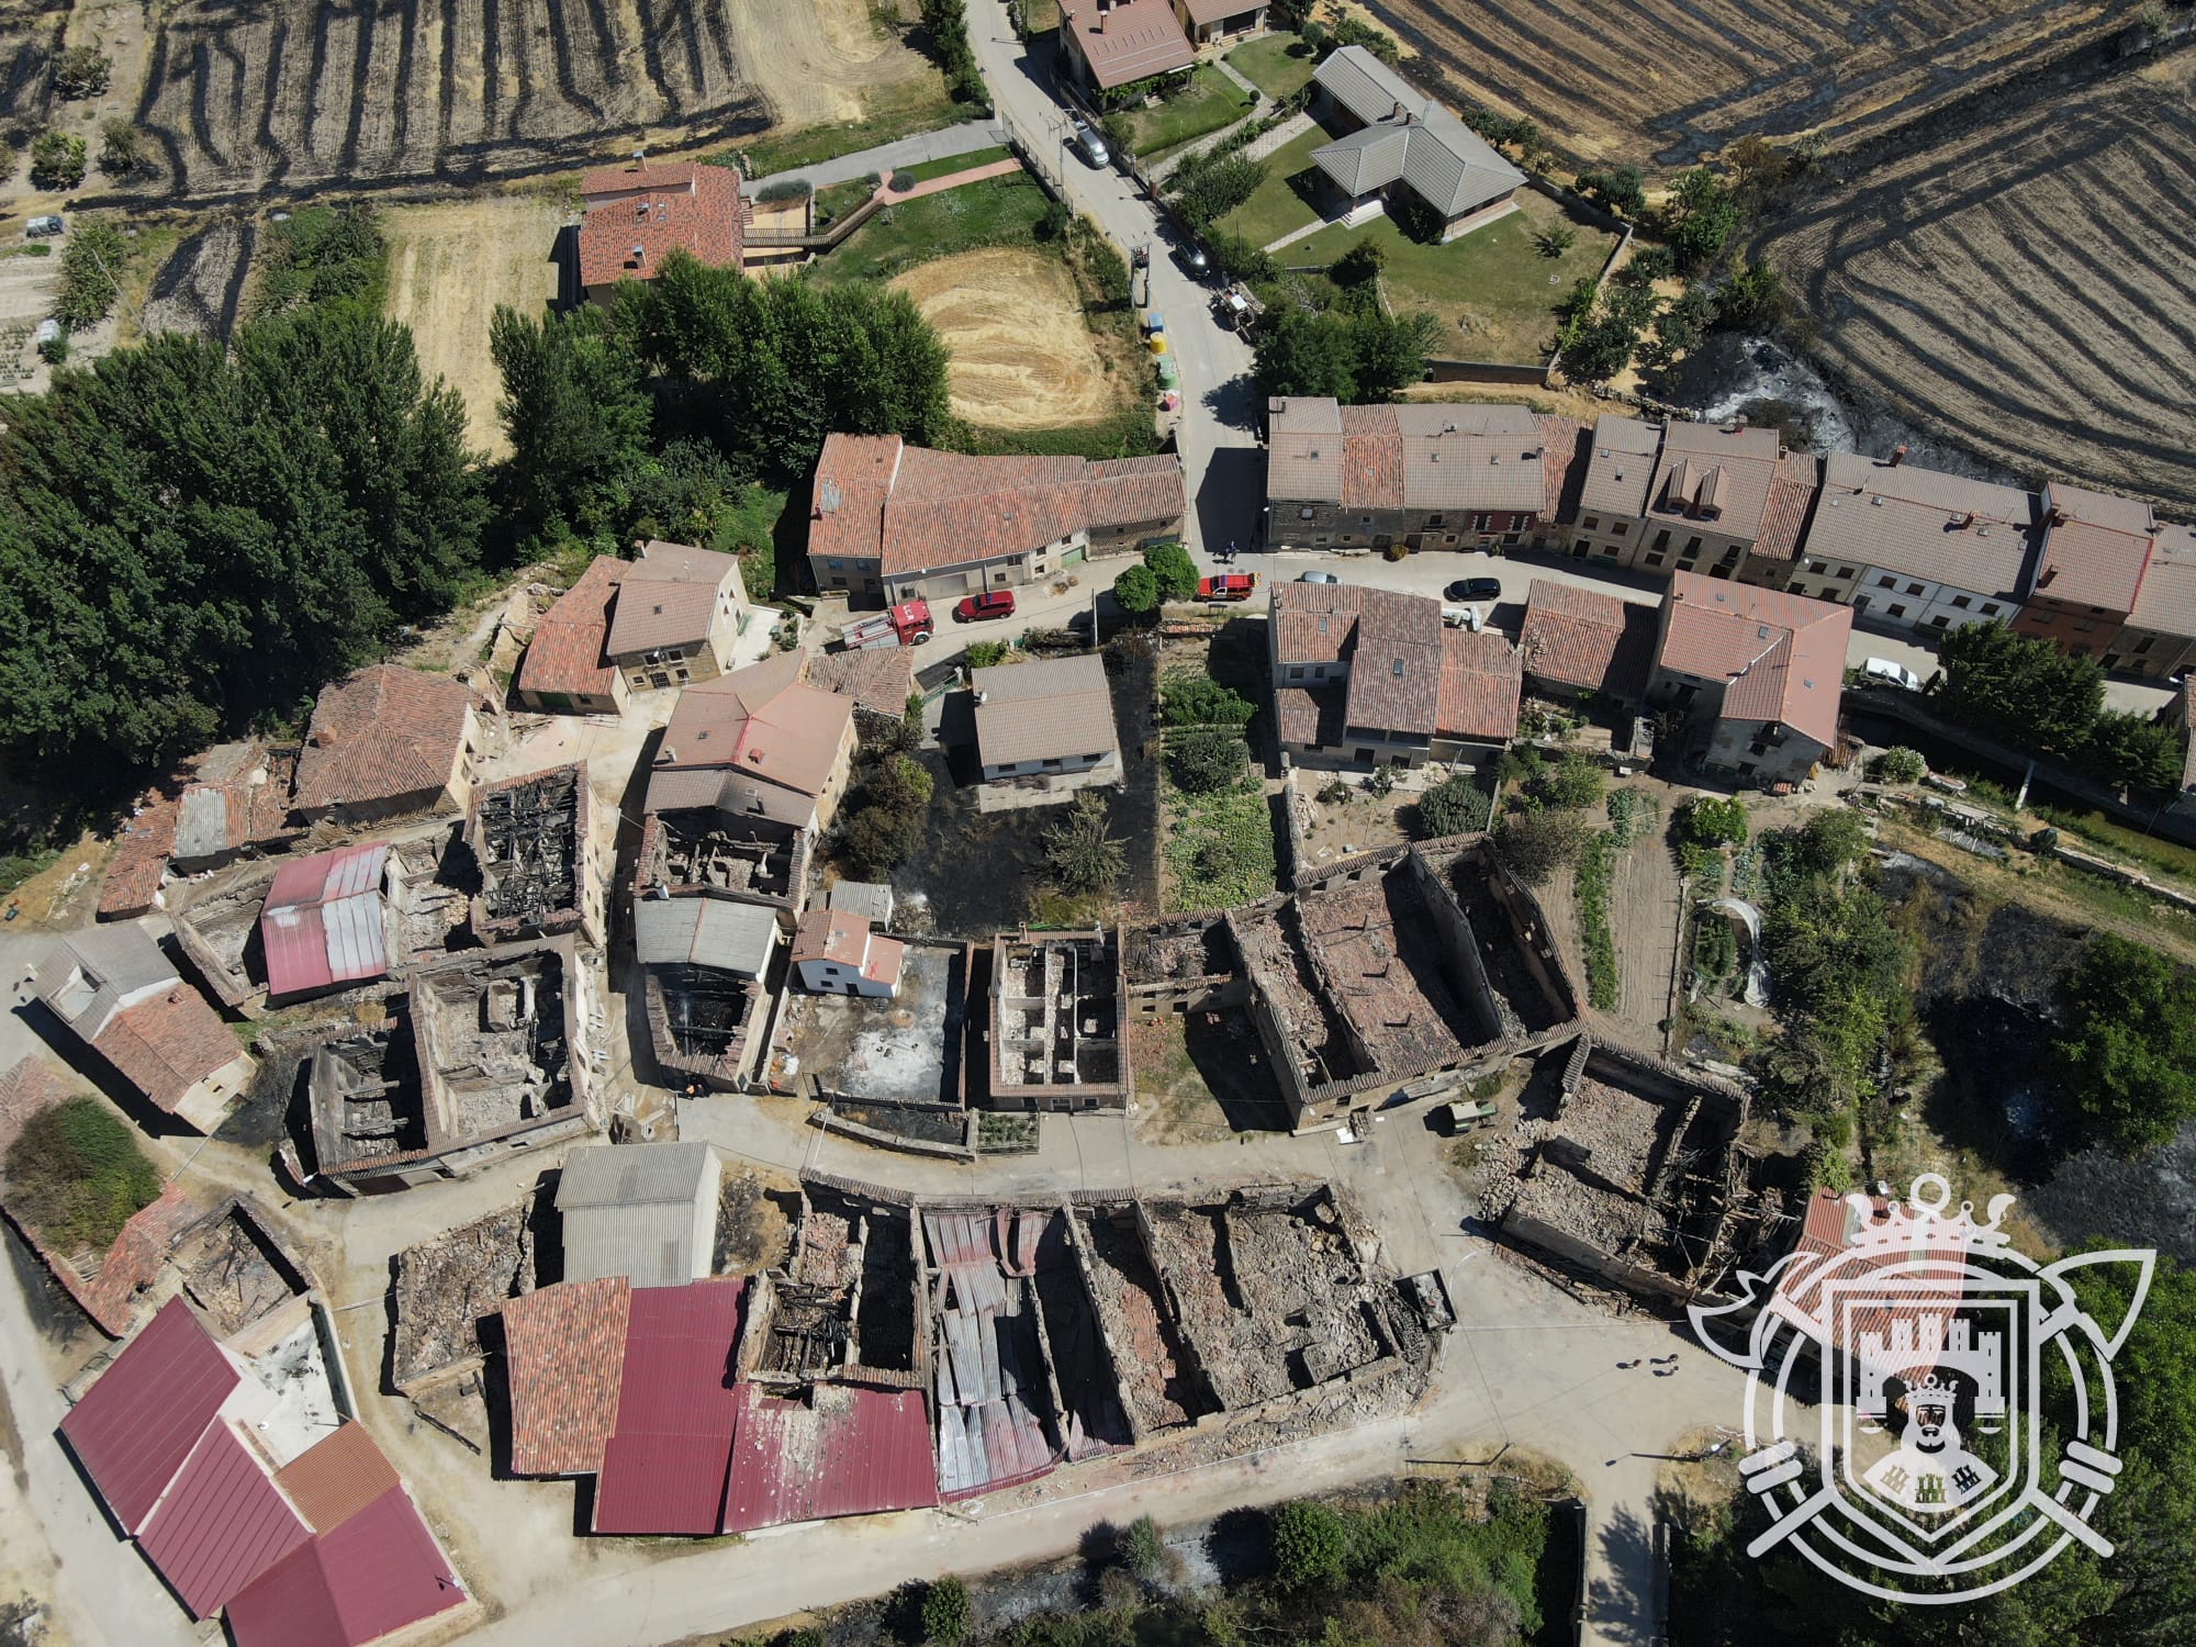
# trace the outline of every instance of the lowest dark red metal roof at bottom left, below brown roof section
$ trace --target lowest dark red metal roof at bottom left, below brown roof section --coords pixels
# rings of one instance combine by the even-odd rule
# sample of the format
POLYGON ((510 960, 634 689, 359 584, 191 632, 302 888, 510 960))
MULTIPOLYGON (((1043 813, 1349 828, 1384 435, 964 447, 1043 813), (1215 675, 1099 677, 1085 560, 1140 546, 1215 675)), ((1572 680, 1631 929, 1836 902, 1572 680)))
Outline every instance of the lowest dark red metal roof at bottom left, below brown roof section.
POLYGON ((463 1603, 402 1487, 259 1575, 228 1603, 237 1647, 365 1647, 463 1603))

